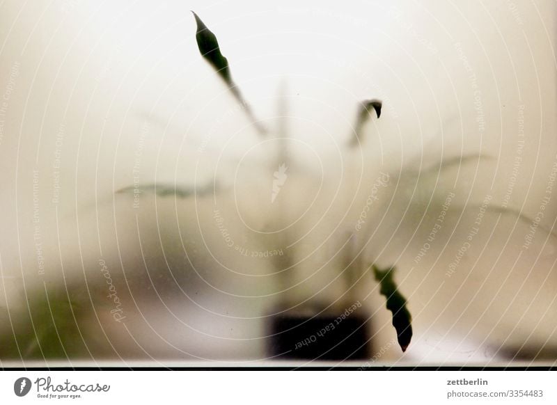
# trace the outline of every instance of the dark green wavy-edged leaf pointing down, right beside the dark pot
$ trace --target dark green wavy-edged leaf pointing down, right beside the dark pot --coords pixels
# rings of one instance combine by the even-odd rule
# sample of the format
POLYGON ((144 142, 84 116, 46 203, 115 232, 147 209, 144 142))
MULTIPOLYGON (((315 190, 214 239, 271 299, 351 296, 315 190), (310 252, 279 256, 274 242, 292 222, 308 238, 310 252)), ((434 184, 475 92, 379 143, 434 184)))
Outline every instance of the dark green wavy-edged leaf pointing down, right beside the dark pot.
POLYGON ((373 265, 375 280, 381 284, 379 292, 386 297, 386 307, 393 312, 393 326, 395 327, 400 349, 406 351, 412 339, 411 315, 406 308, 406 299, 393 280, 394 267, 384 271, 373 265))

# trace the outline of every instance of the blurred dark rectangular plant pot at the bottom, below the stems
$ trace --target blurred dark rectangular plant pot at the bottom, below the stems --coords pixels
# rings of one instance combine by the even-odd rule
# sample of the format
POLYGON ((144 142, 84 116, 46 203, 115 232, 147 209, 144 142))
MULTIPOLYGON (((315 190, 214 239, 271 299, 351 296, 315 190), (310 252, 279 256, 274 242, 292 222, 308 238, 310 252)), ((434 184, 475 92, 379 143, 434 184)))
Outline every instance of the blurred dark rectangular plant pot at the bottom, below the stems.
POLYGON ((276 315, 269 321, 269 356, 299 360, 363 360, 372 352, 369 319, 340 315, 276 315))

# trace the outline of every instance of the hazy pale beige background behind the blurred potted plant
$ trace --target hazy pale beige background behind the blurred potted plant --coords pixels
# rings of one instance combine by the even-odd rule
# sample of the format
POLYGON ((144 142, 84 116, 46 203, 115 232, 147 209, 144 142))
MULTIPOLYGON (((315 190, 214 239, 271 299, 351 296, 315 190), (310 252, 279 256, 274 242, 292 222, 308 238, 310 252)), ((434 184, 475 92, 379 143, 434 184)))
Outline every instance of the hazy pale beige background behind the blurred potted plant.
POLYGON ((555 11, 549 0, 3 1, 3 330, 8 314, 26 310, 25 292, 70 285, 93 301, 84 340, 113 358, 258 360, 277 305, 356 300, 373 315, 386 363, 487 363, 523 344, 551 358, 557 251, 542 227, 556 220, 555 194, 528 249, 528 220, 494 210, 447 271, 485 196, 490 207, 540 211, 557 161, 555 11), (199 56, 189 10, 216 33, 266 138, 199 56), (350 150, 357 104, 368 98, 383 100, 382 116, 350 150), (519 111, 524 150, 512 180, 519 111), (272 203, 277 137, 290 138, 289 168, 272 203), (439 172, 441 159, 461 155, 482 159, 439 172), (141 184, 216 180, 217 195, 145 193, 136 209, 133 195, 114 194, 134 184, 134 166, 141 184), (380 172, 389 183, 356 231, 380 172), (441 230, 416 263, 451 192, 441 230), (296 264, 281 273, 288 277, 273 274, 268 258, 229 248, 214 209, 234 245, 288 251, 296 264), (345 257, 360 251, 363 268, 374 260, 398 268, 414 315, 405 356, 390 344, 389 312, 371 277, 345 294, 345 257), (124 323, 109 313, 100 258, 124 323))

